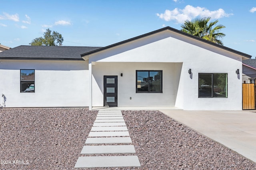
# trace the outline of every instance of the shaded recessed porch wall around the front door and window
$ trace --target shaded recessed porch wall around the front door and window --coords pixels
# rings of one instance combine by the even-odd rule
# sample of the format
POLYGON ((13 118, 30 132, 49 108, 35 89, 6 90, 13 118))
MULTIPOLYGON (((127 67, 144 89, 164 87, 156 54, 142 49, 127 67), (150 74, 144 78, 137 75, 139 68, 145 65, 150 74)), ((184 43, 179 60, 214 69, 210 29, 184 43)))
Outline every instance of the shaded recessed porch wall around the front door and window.
POLYGON ((174 106, 181 66, 182 63, 97 62, 92 66, 92 106, 103 106, 104 75, 118 76, 118 106, 174 106), (163 93, 136 93, 136 70, 162 70, 163 93))

